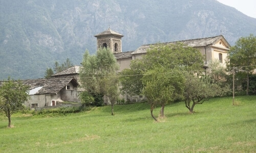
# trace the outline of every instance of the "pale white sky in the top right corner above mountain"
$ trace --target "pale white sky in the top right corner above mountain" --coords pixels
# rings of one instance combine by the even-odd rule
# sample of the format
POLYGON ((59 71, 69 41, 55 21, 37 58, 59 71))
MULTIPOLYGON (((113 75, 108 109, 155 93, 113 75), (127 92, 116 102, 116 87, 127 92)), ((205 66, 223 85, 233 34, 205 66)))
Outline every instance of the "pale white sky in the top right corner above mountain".
POLYGON ((222 4, 236 8, 247 16, 256 18, 256 0, 217 0, 222 4))

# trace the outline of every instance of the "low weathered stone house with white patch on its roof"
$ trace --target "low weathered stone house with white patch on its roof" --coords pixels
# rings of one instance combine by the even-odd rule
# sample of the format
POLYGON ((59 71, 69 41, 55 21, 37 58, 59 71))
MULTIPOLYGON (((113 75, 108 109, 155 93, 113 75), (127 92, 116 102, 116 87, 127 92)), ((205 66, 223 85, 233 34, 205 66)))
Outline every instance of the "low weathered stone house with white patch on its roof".
POLYGON ((31 79, 23 80, 23 84, 30 87, 28 101, 29 108, 56 106, 62 101, 80 102, 77 91, 78 82, 73 78, 31 79))

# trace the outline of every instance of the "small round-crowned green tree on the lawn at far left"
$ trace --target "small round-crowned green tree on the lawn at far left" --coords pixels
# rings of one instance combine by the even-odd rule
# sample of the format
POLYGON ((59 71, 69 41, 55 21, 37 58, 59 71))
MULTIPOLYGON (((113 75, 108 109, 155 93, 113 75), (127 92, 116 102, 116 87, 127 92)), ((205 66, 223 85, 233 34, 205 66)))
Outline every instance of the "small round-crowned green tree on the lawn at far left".
POLYGON ((11 127, 11 115, 23 108, 23 104, 30 97, 27 93, 28 86, 21 81, 8 78, 0 87, 0 110, 8 117, 8 127, 11 127))

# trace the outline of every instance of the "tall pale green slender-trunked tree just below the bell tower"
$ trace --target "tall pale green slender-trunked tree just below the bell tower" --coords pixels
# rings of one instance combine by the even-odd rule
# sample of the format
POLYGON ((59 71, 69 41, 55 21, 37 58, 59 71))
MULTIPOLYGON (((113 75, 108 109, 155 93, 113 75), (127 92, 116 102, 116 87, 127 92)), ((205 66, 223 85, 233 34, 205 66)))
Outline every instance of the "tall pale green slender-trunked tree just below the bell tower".
POLYGON ((91 95, 108 96, 111 104, 114 105, 119 95, 117 94, 118 78, 113 77, 117 75, 117 70, 118 64, 109 48, 99 48, 96 55, 90 55, 86 50, 79 73, 81 87, 91 95))

